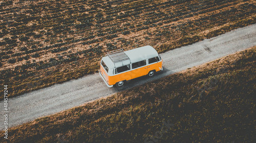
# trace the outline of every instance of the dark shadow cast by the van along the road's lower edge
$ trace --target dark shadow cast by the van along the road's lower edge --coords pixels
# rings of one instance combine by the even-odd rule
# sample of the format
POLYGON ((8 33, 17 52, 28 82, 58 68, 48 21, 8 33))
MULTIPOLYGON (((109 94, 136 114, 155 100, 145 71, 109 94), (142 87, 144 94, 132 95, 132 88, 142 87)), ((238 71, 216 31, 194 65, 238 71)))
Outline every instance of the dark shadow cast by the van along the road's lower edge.
POLYGON ((149 77, 148 75, 137 77, 135 79, 132 79, 132 80, 129 80, 129 81, 125 82, 124 86, 121 87, 121 88, 115 87, 115 85, 114 85, 113 90, 115 92, 120 92, 120 91, 128 90, 128 89, 137 87, 139 85, 142 85, 144 83, 151 82, 151 81, 163 78, 163 77, 165 77, 167 75, 170 75, 170 74, 173 74, 173 73, 175 73, 175 72, 173 72, 171 70, 168 70, 168 69, 166 69, 163 66, 163 70, 161 72, 155 73, 155 75, 152 76, 152 77, 149 77))

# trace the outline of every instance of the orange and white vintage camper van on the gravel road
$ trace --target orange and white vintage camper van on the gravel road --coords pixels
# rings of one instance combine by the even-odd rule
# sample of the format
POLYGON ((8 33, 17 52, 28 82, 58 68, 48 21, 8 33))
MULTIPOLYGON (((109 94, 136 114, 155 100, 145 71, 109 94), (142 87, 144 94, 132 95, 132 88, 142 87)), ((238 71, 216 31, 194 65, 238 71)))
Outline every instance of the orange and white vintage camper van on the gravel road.
POLYGON ((128 51, 123 49, 108 52, 100 63, 100 76, 108 87, 122 87, 124 81, 140 76, 153 76, 162 71, 160 55, 152 46, 128 51))

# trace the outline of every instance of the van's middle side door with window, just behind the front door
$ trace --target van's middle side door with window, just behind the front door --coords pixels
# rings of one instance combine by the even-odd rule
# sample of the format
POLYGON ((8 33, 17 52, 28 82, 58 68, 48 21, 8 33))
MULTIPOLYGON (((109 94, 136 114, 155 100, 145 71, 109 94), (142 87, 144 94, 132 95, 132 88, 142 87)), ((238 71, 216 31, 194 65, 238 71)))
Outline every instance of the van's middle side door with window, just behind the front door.
POLYGON ((132 79, 147 74, 146 60, 132 63, 132 79))

